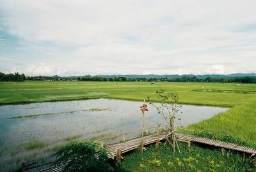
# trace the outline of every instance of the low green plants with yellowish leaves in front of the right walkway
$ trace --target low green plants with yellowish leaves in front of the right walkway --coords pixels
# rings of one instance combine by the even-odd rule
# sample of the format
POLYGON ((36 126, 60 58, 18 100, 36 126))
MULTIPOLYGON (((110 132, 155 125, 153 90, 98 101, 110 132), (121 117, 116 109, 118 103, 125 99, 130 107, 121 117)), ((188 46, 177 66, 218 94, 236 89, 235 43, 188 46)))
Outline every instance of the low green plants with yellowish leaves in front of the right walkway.
POLYGON ((180 143, 181 154, 172 154, 172 148, 163 143, 160 147, 154 145, 140 154, 134 152, 124 157, 122 168, 129 171, 256 171, 250 162, 250 155, 243 161, 243 155, 226 150, 221 155, 220 149, 202 148, 193 145, 188 149, 185 143, 180 143))

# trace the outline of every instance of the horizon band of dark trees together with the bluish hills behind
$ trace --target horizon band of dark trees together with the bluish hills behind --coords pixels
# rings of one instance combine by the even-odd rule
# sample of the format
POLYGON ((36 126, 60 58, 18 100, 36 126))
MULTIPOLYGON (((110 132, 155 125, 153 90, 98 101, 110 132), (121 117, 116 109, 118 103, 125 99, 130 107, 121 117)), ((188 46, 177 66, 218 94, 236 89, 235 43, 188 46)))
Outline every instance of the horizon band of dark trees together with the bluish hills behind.
POLYGON ((221 82, 221 83, 256 83, 255 74, 232 75, 101 75, 101 76, 25 76, 19 73, 0 72, 0 82, 27 81, 90 81, 90 82, 221 82))

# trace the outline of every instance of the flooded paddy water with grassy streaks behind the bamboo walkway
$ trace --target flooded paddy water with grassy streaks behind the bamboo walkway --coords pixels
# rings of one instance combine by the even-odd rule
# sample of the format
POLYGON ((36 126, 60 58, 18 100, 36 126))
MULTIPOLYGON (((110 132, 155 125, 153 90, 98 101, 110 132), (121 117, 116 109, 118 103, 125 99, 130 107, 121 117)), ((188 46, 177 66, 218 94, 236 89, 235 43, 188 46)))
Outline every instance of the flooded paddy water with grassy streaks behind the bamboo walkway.
MULTIPOLYGON (((56 149, 72 141, 94 140, 140 129, 141 104, 138 101, 90 99, 0 106, 0 171, 19 168, 21 162, 51 161, 54 159, 51 154, 56 149)), ((182 105, 176 125, 186 127, 227 110, 182 105)), ((163 118, 150 104, 145 117, 145 127, 164 124, 163 118)), ((139 135, 127 134, 126 139, 139 135)), ((121 140, 122 136, 104 142, 121 140)))

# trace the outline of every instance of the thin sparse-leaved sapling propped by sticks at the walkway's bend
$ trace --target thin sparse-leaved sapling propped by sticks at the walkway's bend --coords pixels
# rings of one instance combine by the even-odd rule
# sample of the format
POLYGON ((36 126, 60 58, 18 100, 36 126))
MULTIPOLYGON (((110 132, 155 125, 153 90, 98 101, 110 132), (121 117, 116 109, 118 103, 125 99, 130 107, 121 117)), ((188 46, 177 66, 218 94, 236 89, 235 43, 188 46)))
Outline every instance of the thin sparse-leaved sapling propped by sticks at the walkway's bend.
MULTIPOLYGON (((173 147, 173 155, 175 154, 175 144, 178 147, 177 140, 175 138, 175 118, 176 115, 181 108, 181 105, 178 104, 179 96, 176 92, 164 92, 163 89, 156 91, 157 101, 159 101, 159 105, 156 103, 152 103, 150 98, 148 97, 148 101, 154 108, 156 108, 157 113, 161 115, 166 122, 166 127, 161 129, 164 134, 166 134, 166 141, 170 143, 173 147), (170 140, 169 140, 170 139, 170 140)), ((180 150, 179 150, 180 151, 180 150)))

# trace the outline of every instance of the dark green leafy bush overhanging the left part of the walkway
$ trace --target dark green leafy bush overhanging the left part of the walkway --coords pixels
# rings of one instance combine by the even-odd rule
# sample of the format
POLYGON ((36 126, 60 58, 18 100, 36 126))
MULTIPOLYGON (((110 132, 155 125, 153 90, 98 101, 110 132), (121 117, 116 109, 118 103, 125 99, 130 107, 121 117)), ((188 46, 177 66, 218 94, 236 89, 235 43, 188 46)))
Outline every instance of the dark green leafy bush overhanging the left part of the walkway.
POLYGON ((65 171, 113 171, 108 164, 108 152, 98 142, 79 141, 56 153, 58 164, 67 162, 65 171))

